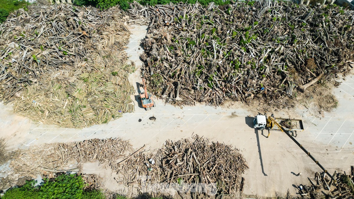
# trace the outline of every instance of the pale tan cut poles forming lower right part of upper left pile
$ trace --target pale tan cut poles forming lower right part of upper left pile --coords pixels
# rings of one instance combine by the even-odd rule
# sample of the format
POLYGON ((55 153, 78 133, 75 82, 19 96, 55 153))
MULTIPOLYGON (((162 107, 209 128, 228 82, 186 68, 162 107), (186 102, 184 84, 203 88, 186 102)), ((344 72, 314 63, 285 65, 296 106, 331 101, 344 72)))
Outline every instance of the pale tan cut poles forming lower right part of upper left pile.
POLYGON ((120 20, 103 25, 102 32, 88 42, 85 61, 48 70, 15 101, 15 112, 39 123, 78 128, 133 112, 134 89, 128 74, 135 68, 125 64, 127 55, 122 50, 129 35, 120 20))

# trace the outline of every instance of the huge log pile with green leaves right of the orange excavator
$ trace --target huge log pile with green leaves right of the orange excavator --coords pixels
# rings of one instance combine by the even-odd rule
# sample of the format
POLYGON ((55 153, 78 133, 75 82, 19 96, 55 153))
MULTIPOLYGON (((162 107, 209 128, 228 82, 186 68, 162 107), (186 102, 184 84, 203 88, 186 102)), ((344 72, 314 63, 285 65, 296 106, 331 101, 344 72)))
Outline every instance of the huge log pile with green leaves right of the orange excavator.
POLYGON ((332 5, 259 1, 133 11, 151 15, 143 71, 150 90, 170 101, 285 104, 284 97, 354 65, 354 11, 332 5))

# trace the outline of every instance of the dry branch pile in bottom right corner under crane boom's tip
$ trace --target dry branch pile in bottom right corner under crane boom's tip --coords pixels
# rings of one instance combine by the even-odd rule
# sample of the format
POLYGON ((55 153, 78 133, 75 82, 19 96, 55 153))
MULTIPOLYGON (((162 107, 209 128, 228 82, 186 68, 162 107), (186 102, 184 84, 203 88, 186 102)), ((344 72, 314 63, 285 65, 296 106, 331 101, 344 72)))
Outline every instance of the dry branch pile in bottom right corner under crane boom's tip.
POLYGON ((349 175, 342 173, 333 174, 333 181, 325 173, 315 173, 313 179, 308 177, 310 184, 304 185, 302 190, 299 190, 302 198, 353 198, 354 197, 354 166, 351 166, 349 175))

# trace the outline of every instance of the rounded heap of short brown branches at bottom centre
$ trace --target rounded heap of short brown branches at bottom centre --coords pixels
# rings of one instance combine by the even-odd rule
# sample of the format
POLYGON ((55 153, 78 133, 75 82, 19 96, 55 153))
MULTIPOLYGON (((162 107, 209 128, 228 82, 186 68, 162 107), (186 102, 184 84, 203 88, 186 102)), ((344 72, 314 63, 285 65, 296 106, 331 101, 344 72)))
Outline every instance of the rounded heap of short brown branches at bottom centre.
POLYGON ((164 182, 215 183, 218 192, 228 194, 243 190, 241 174, 248 166, 232 146, 194 136, 190 140, 166 141, 159 155, 164 182))

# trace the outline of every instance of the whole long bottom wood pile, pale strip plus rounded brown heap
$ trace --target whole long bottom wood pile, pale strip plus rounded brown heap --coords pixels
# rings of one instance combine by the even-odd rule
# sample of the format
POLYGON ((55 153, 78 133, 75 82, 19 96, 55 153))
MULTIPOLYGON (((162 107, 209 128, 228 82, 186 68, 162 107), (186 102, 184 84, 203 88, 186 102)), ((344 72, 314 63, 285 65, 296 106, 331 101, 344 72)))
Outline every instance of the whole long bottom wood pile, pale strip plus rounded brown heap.
MULTIPOLYGON (((196 188, 199 194, 205 194, 206 190, 221 194, 243 190, 241 175, 248 166, 239 150, 232 146, 194 136, 176 142, 167 140, 164 147, 153 152, 143 150, 144 147, 134 151, 129 141, 119 138, 33 146, 16 151, 9 167, 12 173, 6 179, 13 179, 15 175, 36 178, 39 174, 53 177, 56 172, 82 172, 83 163, 98 161, 120 176, 115 180, 127 187, 129 194, 136 191, 154 194, 155 189, 163 188, 184 196, 192 193, 190 185, 198 183, 203 184, 196 188), (149 186, 142 176, 151 177, 149 186)), ((91 180, 98 181, 98 178, 91 180)))

